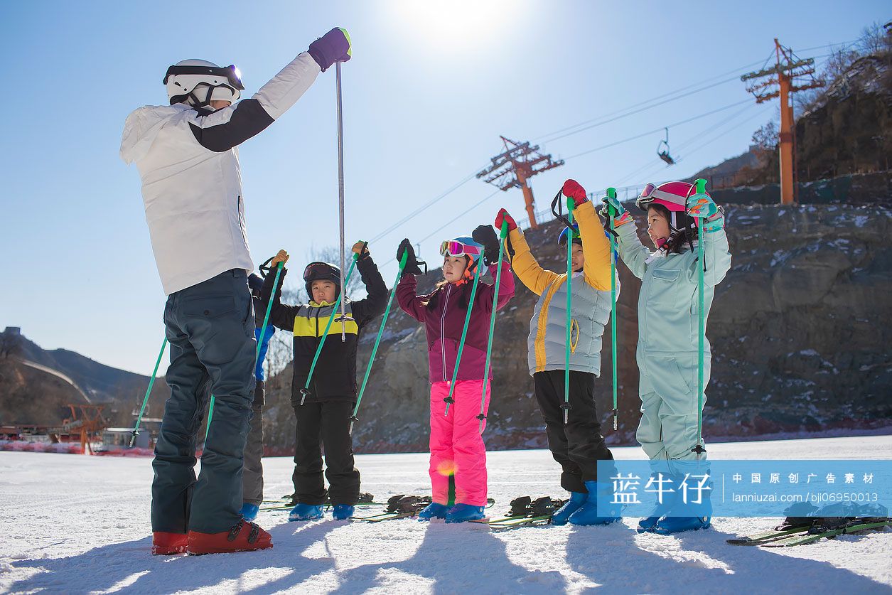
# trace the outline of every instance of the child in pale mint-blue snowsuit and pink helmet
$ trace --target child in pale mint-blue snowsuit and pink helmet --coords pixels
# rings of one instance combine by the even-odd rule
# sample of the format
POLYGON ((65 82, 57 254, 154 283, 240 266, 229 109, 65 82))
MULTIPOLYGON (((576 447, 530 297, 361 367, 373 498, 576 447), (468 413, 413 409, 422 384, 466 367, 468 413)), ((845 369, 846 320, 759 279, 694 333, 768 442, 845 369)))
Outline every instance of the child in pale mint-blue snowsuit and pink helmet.
MULTIPOLYGON (((706 260, 704 317, 709 315, 715 285, 731 268, 722 211, 708 196, 689 204, 692 194, 694 189, 687 182, 645 186, 636 204, 648 213, 648 236, 657 248, 653 253, 640 243, 632 216, 620 202, 607 198, 601 210, 607 216, 608 206, 613 208, 620 256, 632 274, 642 280, 637 355, 641 421, 637 437, 654 474, 657 470, 668 471, 673 481, 670 487, 692 472, 702 474, 708 469, 699 464, 701 459, 705 463, 706 455, 699 453, 703 443, 698 435, 698 415, 702 413, 697 394, 698 224, 703 225, 706 260)), ((709 342, 704 345, 706 387, 709 342)), ((704 498, 696 507, 685 508, 679 499, 664 499, 640 520, 639 531, 677 533, 708 527, 712 506, 708 492, 702 494, 704 498)))

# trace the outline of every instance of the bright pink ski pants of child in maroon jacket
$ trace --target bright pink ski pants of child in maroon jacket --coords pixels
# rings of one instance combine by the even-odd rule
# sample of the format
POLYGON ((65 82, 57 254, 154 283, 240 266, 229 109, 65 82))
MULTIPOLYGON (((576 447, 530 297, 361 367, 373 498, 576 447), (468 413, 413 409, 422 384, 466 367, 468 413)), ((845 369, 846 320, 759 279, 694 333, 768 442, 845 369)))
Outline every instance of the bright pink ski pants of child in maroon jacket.
MULTIPOLYGON (((483 380, 459 380, 449 408, 443 413, 449 395, 448 382, 431 384, 431 489, 434 502, 449 500, 449 477, 455 476, 458 504, 486 506, 486 445, 480 429, 480 396, 483 380)), ((490 383, 486 382, 483 415, 490 407, 490 383)), ((483 420, 483 429, 486 420, 483 420)))

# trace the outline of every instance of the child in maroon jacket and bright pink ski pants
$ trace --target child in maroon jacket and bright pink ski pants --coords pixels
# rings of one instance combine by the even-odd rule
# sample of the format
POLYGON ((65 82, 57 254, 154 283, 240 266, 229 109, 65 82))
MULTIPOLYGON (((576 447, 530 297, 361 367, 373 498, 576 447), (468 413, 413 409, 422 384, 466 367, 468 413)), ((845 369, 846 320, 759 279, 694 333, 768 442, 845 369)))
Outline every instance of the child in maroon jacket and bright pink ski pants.
POLYGON ((474 230, 473 239, 457 237, 443 242, 440 253, 444 280, 426 295, 415 293, 415 276, 420 275, 421 270, 408 239, 400 244, 397 260, 403 252, 408 252, 409 257, 397 285, 397 301, 404 312, 425 324, 431 381, 429 474, 434 501, 418 514, 418 518, 445 518, 447 523, 480 519, 486 507, 486 446, 480 430, 485 418, 478 420, 477 416, 484 388, 484 416, 490 401, 491 375, 483 378, 490 316, 493 308, 504 307, 514 295, 514 276, 506 260, 502 263, 498 296, 492 285, 480 283, 477 286, 452 393, 454 402, 450 403, 446 415, 445 400, 455 371, 458 343, 465 326, 476 268, 481 266, 483 258, 495 277, 499 238, 492 227, 480 226, 474 230), (452 508, 447 506, 450 475, 455 478, 456 505, 452 508))

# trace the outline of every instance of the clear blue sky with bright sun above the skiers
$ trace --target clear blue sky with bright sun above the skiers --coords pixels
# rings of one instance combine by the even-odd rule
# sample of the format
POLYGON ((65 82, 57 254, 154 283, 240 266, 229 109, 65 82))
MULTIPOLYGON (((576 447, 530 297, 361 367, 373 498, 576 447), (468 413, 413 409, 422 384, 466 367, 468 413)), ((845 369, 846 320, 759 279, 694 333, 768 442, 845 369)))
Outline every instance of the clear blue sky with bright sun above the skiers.
MULTIPOLYGON (((118 149, 128 112, 166 103, 161 78, 173 62, 235 63, 251 95, 314 38, 349 29, 347 236, 370 239, 483 169, 500 153, 500 135, 567 160, 533 178, 540 210, 565 178, 593 190, 690 175, 744 151, 774 117, 776 103, 743 103, 751 95, 728 80, 758 68, 773 37, 820 56, 827 49, 818 46, 854 40, 888 18, 884 2, 4 2, 0 327, 151 371, 165 296, 139 177, 118 149), (556 130, 699 81, 714 86, 552 140, 556 130), (662 131, 574 156, 739 102, 670 129, 682 160, 673 169, 656 158, 662 131)), ((242 146, 256 263, 285 248, 300 269, 313 246, 337 244, 335 131, 331 70, 242 146)), ((501 206, 524 215, 519 191, 500 192, 436 231, 494 189, 472 179, 370 244, 388 284, 402 237, 430 235, 422 255, 435 261, 441 239, 491 223, 501 206)))

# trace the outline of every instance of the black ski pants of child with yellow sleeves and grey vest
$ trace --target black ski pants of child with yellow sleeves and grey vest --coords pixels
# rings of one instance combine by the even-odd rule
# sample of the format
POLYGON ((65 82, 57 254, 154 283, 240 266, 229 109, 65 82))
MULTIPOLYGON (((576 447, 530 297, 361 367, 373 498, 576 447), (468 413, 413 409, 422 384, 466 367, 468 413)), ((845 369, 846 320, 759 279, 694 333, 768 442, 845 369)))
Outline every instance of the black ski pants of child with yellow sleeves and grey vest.
POLYGON ((551 455, 563 469, 561 487, 567 492, 587 492, 584 483, 598 481, 598 461, 613 460, 595 409, 595 375, 570 371, 571 409, 566 426, 560 407, 564 403, 564 370, 536 372, 533 384, 551 455))

